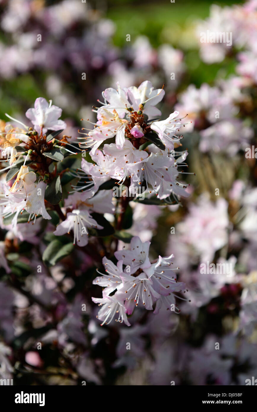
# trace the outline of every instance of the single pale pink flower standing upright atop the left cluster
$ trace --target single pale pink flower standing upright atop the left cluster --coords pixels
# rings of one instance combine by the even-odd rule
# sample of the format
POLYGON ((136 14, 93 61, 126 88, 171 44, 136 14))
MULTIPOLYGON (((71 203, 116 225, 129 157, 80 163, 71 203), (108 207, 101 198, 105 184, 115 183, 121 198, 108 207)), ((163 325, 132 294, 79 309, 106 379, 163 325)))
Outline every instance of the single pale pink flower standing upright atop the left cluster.
POLYGON ((48 104, 46 99, 38 97, 35 100, 35 108, 26 111, 26 117, 30 119, 38 133, 40 133, 41 128, 43 133, 46 133, 47 130, 57 131, 66 128, 66 123, 63 120, 58 120, 62 110, 51 103, 51 100, 48 104))

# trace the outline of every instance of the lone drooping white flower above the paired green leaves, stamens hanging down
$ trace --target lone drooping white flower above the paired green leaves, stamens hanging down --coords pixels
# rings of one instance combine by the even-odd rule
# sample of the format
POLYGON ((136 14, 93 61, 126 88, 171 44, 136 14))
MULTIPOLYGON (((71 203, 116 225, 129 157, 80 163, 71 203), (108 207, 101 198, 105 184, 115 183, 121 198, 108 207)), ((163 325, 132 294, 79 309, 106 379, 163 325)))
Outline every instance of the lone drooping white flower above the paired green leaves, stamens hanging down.
POLYGON ((73 244, 77 242, 78 246, 86 246, 88 243, 87 227, 103 229, 103 226, 98 225, 87 210, 73 210, 67 213, 67 218, 56 227, 54 234, 61 236, 65 233, 70 234, 73 230, 73 244))

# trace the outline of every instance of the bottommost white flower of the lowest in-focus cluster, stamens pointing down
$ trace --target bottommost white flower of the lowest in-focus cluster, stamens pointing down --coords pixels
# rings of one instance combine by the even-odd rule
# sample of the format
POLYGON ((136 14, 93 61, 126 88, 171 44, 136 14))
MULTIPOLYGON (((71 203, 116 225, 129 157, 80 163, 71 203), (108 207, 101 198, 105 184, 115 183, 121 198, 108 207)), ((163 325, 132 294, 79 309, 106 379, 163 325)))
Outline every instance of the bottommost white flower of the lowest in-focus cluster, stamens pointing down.
POLYGON ((116 317, 115 322, 124 322, 127 326, 130 326, 126 316, 123 294, 116 292, 113 296, 92 297, 92 300, 98 303, 98 306, 102 306, 97 316, 100 321, 103 321, 101 326, 109 325, 114 317, 116 317))

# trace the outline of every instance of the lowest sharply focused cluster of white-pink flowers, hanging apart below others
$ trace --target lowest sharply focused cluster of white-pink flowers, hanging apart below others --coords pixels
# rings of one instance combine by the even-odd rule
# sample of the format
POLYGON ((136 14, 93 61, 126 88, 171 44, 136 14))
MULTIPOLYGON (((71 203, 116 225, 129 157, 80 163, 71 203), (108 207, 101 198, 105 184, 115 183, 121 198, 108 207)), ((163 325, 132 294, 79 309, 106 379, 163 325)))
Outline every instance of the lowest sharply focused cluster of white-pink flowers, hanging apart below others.
POLYGON ((126 314, 131 315, 138 304, 152 310, 154 302, 157 302, 154 313, 158 313, 162 305, 167 310, 172 310, 173 306, 173 311, 176 311, 175 297, 178 296, 174 292, 185 293, 186 290, 185 284, 176 280, 175 272, 171 268, 174 256, 159 256, 158 262, 151 264, 149 246, 150 242, 142 243, 139 237, 135 236, 131 239, 129 249, 115 252, 117 266, 111 260, 103 258, 107 274, 93 281, 94 284, 104 287, 103 297, 92 297, 93 302, 101 306, 97 316, 103 321, 101 326, 109 324, 116 316, 116 322, 124 322, 130 326, 126 314), (125 270, 123 266, 126 266, 125 270), (115 290, 114 295, 110 296, 115 290))

